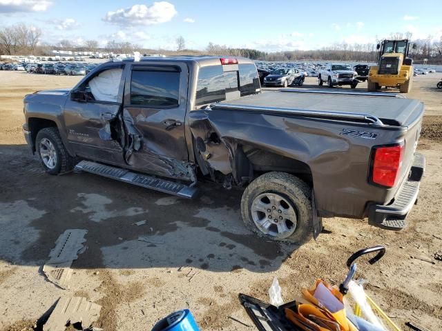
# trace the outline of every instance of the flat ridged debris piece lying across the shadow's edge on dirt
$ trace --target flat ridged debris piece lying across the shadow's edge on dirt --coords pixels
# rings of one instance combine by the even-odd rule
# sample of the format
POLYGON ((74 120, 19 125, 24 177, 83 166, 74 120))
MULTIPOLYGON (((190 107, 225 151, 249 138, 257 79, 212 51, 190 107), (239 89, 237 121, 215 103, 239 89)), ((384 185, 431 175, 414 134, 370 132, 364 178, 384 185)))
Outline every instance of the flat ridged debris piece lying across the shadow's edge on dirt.
POLYGON ((68 281, 72 276, 70 265, 78 258, 78 254, 85 251, 83 243, 86 242, 86 233, 88 230, 66 230, 55 241, 55 248, 49 253, 49 261, 43 266, 43 272, 48 281, 55 283, 59 288, 68 288, 68 281))

